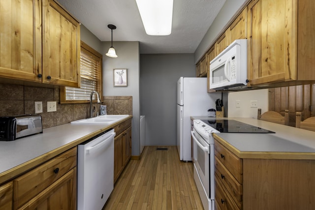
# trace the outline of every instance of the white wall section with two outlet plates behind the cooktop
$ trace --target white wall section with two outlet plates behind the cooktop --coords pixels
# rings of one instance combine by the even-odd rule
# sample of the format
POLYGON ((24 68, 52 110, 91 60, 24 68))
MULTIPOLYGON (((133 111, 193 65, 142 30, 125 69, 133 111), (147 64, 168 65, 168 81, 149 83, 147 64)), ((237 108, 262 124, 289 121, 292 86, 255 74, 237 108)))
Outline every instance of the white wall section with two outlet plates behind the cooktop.
POLYGON ((228 93, 228 117, 229 118, 255 118, 258 108, 261 113, 268 111, 268 89, 247 90, 228 93), (240 107, 236 108, 236 101, 240 101, 240 107), (257 101, 257 108, 251 108, 251 100, 257 101))

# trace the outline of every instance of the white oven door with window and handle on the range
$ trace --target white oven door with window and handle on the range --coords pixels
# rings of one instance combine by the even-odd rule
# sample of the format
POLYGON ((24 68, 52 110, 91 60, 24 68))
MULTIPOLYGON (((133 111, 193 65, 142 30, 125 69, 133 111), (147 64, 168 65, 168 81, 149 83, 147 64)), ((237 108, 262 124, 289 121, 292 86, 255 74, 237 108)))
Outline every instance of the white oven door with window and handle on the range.
POLYGON ((210 198, 210 145, 196 132, 195 129, 191 131, 193 138, 193 163, 199 175, 207 197, 210 198))

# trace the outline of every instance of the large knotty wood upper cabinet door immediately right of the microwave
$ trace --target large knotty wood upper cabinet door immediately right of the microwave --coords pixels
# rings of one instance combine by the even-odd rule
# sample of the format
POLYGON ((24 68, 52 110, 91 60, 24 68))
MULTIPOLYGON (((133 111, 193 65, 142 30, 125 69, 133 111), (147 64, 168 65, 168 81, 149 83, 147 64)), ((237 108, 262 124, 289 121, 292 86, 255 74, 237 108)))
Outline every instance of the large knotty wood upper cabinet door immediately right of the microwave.
POLYGON ((252 0, 248 5, 251 85, 296 80, 294 2, 252 0))

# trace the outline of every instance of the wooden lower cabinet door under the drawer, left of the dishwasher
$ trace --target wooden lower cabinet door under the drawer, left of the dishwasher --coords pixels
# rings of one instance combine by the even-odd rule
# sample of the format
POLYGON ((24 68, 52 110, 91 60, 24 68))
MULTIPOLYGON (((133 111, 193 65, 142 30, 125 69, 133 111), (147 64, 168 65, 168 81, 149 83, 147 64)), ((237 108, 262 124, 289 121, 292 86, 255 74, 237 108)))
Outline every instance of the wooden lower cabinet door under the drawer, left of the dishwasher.
POLYGON ((76 167, 19 210, 76 210, 76 167))

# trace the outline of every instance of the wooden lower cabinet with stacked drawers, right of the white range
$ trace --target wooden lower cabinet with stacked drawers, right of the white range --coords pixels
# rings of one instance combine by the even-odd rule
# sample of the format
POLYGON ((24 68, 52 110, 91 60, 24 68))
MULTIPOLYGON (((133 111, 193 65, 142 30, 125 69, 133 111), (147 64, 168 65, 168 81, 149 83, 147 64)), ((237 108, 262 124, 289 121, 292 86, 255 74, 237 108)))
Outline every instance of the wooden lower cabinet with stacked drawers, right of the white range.
POLYGON ((315 160, 283 155, 238 158, 216 139, 216 210, 314 210, 315 160))

